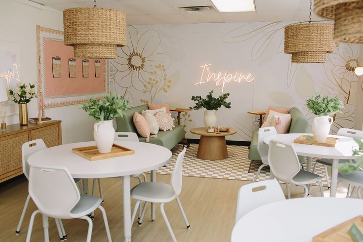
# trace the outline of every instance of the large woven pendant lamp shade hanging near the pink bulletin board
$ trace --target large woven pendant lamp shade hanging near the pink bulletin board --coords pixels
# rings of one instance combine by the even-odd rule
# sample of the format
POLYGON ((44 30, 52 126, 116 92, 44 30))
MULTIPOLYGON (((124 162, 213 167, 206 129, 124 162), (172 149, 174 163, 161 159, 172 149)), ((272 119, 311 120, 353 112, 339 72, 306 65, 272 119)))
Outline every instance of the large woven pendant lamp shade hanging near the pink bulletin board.
POLYGON ((73 46, 75 58, 117 58, 117 47, 126 45, 126 14, 100 7, 63 11, 64 44, 73 46))

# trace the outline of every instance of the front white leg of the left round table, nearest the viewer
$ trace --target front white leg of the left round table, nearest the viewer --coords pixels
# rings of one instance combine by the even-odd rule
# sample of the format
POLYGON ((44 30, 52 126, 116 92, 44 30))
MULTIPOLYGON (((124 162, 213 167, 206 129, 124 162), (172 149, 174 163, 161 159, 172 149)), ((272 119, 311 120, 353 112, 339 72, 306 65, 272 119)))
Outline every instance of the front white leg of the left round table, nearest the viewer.
POLYGON ((130 176, 122 176, 123 183, 123 236, 124 242, 131 242, 131 197, 130 176))

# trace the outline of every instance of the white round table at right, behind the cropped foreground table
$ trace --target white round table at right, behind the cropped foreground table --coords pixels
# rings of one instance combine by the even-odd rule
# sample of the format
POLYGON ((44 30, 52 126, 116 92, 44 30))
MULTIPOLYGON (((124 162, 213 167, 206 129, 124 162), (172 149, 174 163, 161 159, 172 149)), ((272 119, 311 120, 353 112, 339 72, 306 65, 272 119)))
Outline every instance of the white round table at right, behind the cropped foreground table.
MULTIPOLYGON (((358 148, 358 144, 353 140, 353 138, 338 136, 338 135, 328 135, 328 137, 337 137, 339 141, 336 143, 335 147, 326 147, 318 145, 304 145, 294 143, 294 139, 299 137, 300 133, 295 134, 278 134, 266 137, 263 141, 267 145, 270 140, 276 140, 278 142, 291 144, 297 155, 308 157, 308 170, 311 171, 311 159, 316 158, 326 158, 332 159, 331 168, 331 182, 330 182, 330 197, 335 197, 336 187, 338 181, 338 169, 335 168, 341 160, 354 160, 357 156, 353 156, 353 149, 358 148)), ((313 134, 308 134, 313 135, 313 134)))

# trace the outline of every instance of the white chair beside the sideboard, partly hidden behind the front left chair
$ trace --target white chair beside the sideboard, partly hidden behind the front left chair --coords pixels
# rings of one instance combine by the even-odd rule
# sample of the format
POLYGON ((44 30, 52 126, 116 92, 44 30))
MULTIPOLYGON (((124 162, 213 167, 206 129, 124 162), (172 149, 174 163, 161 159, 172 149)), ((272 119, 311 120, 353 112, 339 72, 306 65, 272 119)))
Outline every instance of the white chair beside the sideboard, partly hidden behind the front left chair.
MULTIPOLYGON (((40 150, 43 150, 43 149, 46 149, 46 145, 42 139, 28 141, 21 146, 23 173, 28 180, 29 180, 29 164, 27 162, 28 157, 30 157, 32 154, 34 154, 40 150)), ((79 186, 81 186, 80 181, 81 181, 81 179, 75 179, 75 182, 79 186)), ((81 187, 80 187, 80 190, 81 190, 81 187)), ((18 235, 20 233, 20 228, 23 223, 23 219, 25 216, 25 212, 27 211, 29 201, 30 201, 30 194, 28 194, 27 200, 25 201, 24 208, 21 213, 18 226, 16 227, 16 230, 15 230, 16 235, 18 235)), ((64 239, 67 239, 67 235, 64 231, 62 222, 56 220, 56 225, 58 228, 58 232, 60 232, 59 233, 60 240, 63 241, 64 239)))

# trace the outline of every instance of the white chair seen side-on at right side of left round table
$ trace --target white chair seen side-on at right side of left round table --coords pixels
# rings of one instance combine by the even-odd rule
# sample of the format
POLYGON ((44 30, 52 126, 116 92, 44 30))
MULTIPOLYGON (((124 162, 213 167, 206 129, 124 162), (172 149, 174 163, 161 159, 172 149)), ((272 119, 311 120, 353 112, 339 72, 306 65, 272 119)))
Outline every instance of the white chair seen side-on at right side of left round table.
POLYGON ((170 179, 170 184, 165 184, 160 182, 143 182, 131 189, 131 198, 137 199, 134 211, 132 213, 131 222, 133 222, 135 219, 137 208, 140 204, 140 201, 145 201, 145 204, 142 209, 141 217, 138 221, 139 226, 142 223, 142 219, 144 217, 148 202, 160 202, 160 210, 162 217, 164 218, 166 227, 169 230, 170 236, 174 242, 176 242, 176 239, 169 224, 169 221, 166 217, 164 211, 164 203, 176 199, 176 202, 179 205, 179 209, 183 215, 185 224, 187 225, 187 229, 190 229, 187 216, 185 215, 183 207, 178 198, 182 189, 182 165, 183 165, 185 151, 186 148, 184 148, 183 151, 179 153, 178 158, 176 159, 174 165, 174 171, 170 179))

